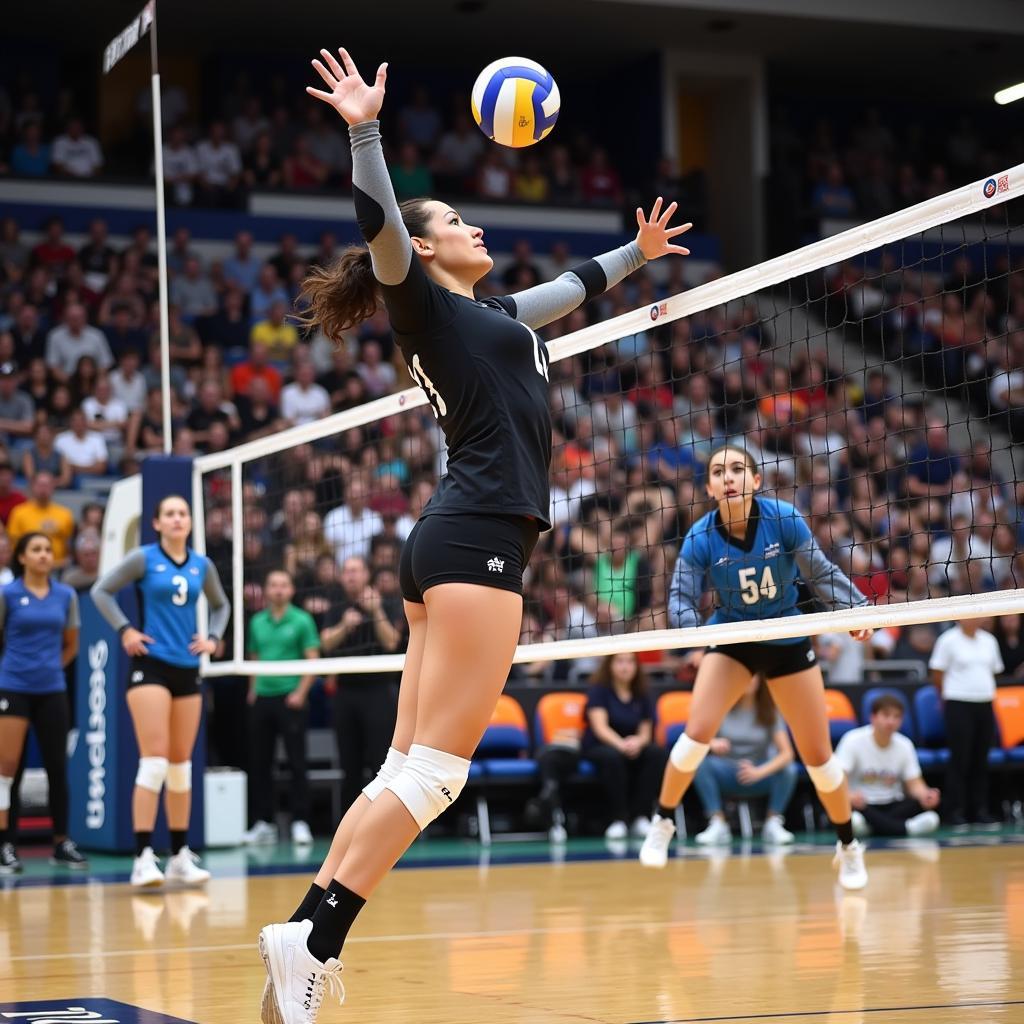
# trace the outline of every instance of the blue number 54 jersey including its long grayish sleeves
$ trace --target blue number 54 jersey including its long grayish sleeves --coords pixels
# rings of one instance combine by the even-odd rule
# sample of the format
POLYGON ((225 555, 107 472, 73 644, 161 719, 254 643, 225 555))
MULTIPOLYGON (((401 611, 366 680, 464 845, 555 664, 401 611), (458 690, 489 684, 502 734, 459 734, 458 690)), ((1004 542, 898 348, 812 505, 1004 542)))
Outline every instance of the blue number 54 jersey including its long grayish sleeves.
MULTIPOLYGON (((716 509, 698 519, 683 541, 673 573, 673 626, 699 626, 705 590, 717 607, 709 623, 739 623, 799 615, 797 581, 803 579, 830 608, 866 604, 866 598, 825 557, 794 506, 755 498, 743 538, 731 536, 716 509)), ((768 643, 800 643, 787 637, 768 643)))

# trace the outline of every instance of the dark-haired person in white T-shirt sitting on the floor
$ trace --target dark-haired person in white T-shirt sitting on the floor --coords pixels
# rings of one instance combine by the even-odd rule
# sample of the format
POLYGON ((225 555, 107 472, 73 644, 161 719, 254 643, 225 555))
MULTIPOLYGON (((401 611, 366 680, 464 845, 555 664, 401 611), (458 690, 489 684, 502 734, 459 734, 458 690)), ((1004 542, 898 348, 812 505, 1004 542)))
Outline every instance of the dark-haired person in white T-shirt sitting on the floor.
POLYGON ((918 752, 899 731, 902 724, 899 697, 880 694, 871 701, 871 724, 851 729, 836 748, 858 836, 927 836, 939 827, 939 791, 922 778, 918 752))

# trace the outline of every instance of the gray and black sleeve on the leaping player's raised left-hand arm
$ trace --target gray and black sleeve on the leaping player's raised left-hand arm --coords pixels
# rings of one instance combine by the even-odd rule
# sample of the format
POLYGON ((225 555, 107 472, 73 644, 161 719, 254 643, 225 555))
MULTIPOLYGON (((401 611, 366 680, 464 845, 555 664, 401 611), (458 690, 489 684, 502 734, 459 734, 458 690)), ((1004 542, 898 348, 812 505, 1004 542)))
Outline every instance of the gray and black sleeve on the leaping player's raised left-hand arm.
POLYGON ((384 163, 379 121, 348 129, 352 144, 352 199, 359 230, 367 240, 374 275, 382 285, 400 285, 409 273, 413 243, 401 222, 394 187, 384 163))

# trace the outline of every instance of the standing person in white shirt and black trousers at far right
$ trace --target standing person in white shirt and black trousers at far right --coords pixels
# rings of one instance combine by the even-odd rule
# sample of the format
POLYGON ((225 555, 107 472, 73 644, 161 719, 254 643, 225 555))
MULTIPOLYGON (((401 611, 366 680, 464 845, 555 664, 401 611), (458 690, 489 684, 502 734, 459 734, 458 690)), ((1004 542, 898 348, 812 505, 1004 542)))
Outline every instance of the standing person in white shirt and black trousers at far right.
POLYGON ((981 628, 988 623, 968 618, 947 630, 935 641, 928 663, 942 692, 949 743, 943 818, 954 828, 969 821, 980 828, 999 827, 988 813, 988 751, 995 736, 995 677, 1004 669, 995 637, 981 628))

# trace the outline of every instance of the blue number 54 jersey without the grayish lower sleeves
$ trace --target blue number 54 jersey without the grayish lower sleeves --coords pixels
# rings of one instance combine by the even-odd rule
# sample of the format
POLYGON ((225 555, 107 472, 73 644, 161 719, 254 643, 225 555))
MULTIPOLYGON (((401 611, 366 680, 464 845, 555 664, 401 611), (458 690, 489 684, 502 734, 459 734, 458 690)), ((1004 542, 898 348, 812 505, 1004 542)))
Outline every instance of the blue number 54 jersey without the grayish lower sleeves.
MULTIPOLYGON (((811 530, 794 506, 755 498, 743 539, 726 534, 715 509, 689 529, 679 557, 705 579, 718 596, 709 623, 738 623, 799 615, 795 553, 812 543, 811 530)), ((799 643, 801 637, 766 641, 799 643)))

